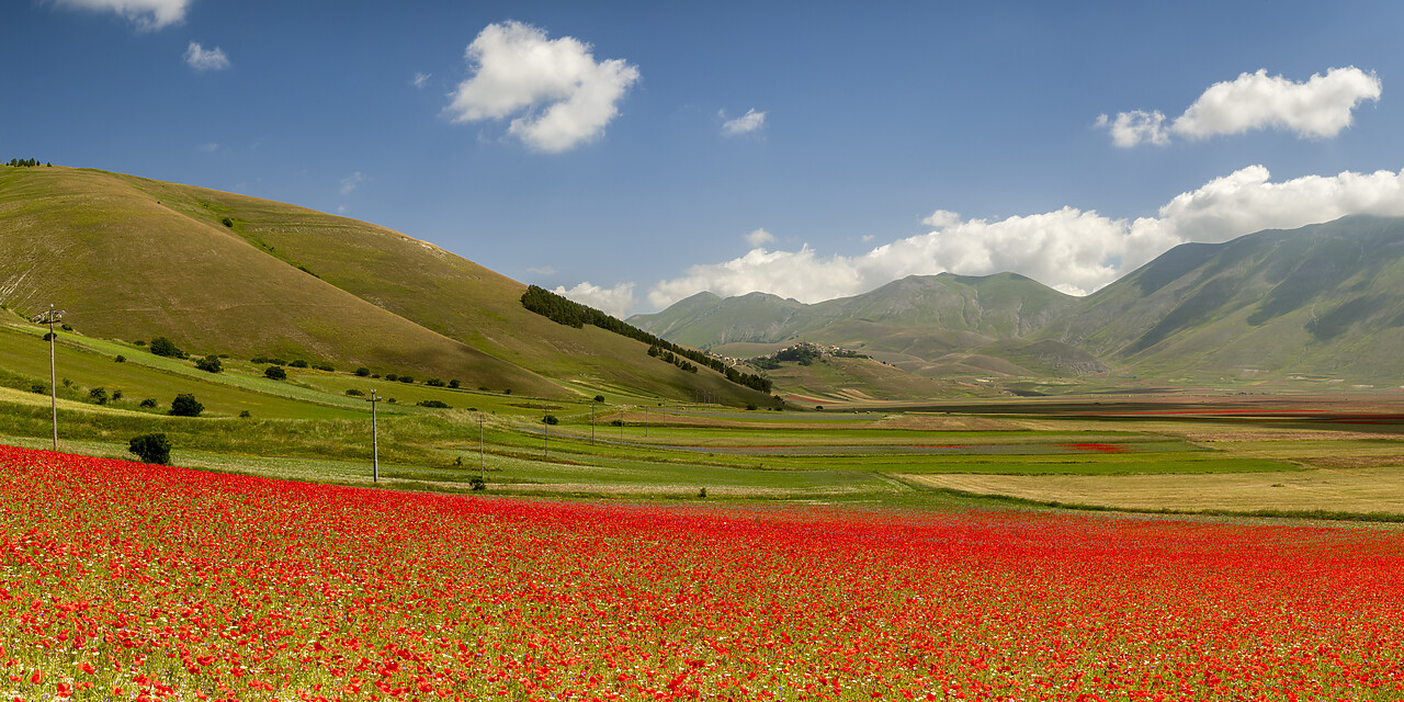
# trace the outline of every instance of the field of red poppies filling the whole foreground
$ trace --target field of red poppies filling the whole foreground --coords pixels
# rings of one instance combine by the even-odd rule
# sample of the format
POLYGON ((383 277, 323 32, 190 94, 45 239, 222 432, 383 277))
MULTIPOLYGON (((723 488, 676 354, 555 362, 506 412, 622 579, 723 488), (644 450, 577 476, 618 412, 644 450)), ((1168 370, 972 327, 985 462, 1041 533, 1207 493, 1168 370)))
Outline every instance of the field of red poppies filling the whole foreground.
POLYGON ((1404 535, 623 505, 0 446, 3 699, 1404 699, 1404 535))

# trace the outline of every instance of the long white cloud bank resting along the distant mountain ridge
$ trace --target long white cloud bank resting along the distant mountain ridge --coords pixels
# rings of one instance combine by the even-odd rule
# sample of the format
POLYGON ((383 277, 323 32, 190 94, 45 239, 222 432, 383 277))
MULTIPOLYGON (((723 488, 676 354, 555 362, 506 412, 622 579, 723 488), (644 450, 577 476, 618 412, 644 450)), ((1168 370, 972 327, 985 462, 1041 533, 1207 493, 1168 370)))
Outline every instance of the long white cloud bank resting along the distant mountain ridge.
POLYGON ((1186 241, 1220 243, 1262 229, 1292 229, 1345 215, 1404 216, 1404 170, 1341 173, 1272 183, 1250 166, 1174 197, 1157 216, 1115 219, 1071 206, 1000 220, 965 219, 938 209, 932 230, 861 256, 755 249, 720 264, 694 265, 647 295, 665 307, 712 291, 762 291, 820 302, 858 295, 907 275, 1014 271, 1073 295, 1092 292, 1186 241))

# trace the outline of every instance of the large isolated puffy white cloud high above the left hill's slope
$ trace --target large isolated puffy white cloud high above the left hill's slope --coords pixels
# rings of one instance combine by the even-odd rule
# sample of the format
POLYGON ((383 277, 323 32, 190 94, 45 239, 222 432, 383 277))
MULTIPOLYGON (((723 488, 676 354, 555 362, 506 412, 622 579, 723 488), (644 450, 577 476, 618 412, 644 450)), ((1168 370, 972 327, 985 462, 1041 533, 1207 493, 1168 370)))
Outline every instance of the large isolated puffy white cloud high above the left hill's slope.
POLYGON ((445 112, 453 122, 511 121, 507 132, 532 149, 560 153, 598 139, 619 114, 619 100, 639 80, 622 59, 595 62, 573 37, 548 39, 521 22, 490 24, 466 58, 473 76, 459 83, 445 112))

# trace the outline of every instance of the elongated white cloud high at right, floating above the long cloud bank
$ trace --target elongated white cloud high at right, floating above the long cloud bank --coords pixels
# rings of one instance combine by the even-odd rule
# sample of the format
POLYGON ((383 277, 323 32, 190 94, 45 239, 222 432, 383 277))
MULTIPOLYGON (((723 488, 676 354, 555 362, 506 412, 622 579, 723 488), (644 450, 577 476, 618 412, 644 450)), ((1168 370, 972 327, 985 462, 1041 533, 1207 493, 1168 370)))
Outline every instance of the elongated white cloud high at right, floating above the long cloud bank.
POLYGON ((1377 101, 1382 91, 1373 72, 1355 66, 1331 69, 1325 76, 1317 73, 1304 83, 1268 76, 1266 69, 1259 69, 1209 86, 1170 126, 1160 111, 1141 110, 1119 112, 1115 119, 1101 115, 1097 126, 1106 128, 1112 143, 1123 149, 1147 142, 1164 146, 1171 133, 1206 139, 1251 129, 1283 129, 1303 139, 1325 139, 1351 126, 1355 108, 1366 100, 1377 101))

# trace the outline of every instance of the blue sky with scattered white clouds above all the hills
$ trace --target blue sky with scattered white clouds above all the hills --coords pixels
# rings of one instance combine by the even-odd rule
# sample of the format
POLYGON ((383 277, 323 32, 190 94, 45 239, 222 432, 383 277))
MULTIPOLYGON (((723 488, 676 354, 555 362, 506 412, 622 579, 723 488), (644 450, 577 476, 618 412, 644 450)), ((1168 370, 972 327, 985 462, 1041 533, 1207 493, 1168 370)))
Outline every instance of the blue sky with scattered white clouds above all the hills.
POLYGON ((1085 293, 1182 241, 1404 215, 1398 3, 17 0, 0 27, 0 160, 344 213, 616 314, 941 271, 1085 293))

